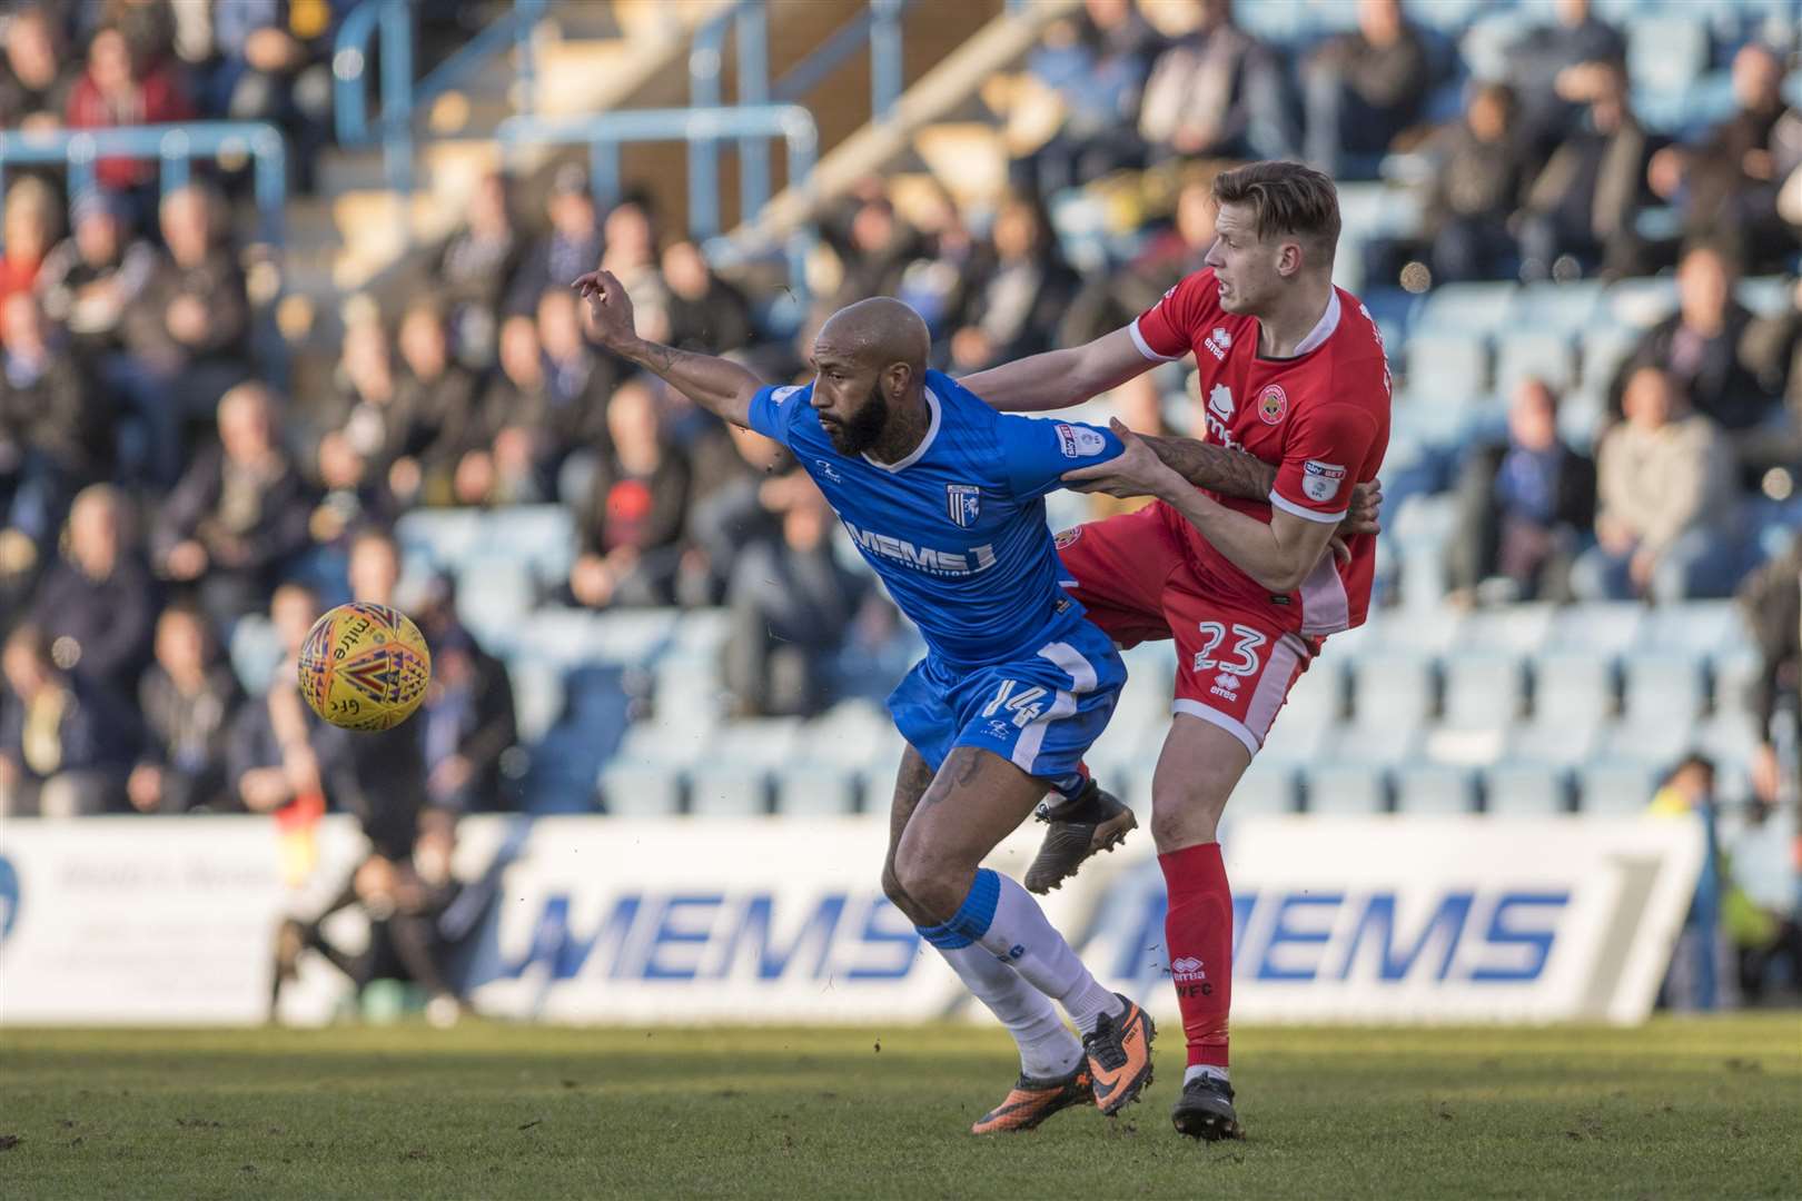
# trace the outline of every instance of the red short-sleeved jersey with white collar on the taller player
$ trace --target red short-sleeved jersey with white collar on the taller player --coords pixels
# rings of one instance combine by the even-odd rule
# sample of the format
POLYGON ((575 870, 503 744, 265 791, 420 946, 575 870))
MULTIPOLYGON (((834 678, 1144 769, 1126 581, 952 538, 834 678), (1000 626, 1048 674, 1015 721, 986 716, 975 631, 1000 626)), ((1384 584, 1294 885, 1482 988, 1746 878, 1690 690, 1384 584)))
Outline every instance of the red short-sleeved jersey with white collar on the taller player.
MULTIPOLYGON (((1215 497, 1227 508, 1270 520, 1270 508, 1306 520, 1339 522, 1352 486, 1377 477, 1389 447, 1389 362, 1382 333, 1355 295, 1333 288, 1321 324, 1294 358, 1258 355, 1258 319, 1220 308, 1211 266, 1186 277, 1132 324, 1146 358, 1175 360, 1189 351, 1200 367, 1206 441, 1247 450, 1278 468, 1269 501, 1215 497)), ((1195 526, 1180 524, 1197 574, 1265 612, 1278 628, 1315 637, 1362 625, 1377 540, 1352 540, 1352 562, 1321 560, 1299 589, 1272 596, 1216 551, 1195 526)))

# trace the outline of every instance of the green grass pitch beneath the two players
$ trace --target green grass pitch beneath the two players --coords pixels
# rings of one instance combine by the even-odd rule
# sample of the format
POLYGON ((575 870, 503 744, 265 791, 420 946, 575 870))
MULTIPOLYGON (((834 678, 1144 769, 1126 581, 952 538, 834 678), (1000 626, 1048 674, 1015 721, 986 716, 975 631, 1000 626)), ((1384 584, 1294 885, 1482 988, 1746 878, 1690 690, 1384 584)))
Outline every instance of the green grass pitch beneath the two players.
POLYGON ((978 1140, 993 1028, 0 1034, 0 1196, 1802 1197, 1802 1017, 1233 1035, 1251 1138, 978 1140), (16 1138, 16 1142, 13 1142, 16 1138))

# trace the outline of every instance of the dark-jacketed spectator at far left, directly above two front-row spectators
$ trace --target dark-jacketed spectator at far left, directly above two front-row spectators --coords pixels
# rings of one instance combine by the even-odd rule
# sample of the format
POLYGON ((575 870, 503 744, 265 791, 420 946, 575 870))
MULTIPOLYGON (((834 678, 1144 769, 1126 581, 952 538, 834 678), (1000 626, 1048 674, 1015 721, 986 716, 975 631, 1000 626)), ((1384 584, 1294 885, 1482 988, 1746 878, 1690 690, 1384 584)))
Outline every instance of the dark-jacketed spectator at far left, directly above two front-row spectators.
POLYGON ((130 511, 112 484, 90 484, 68 510, 61 558, 38 585, 34 619, 56 661, 124 700, 150 663, 157 589, 132 546, 130 511))

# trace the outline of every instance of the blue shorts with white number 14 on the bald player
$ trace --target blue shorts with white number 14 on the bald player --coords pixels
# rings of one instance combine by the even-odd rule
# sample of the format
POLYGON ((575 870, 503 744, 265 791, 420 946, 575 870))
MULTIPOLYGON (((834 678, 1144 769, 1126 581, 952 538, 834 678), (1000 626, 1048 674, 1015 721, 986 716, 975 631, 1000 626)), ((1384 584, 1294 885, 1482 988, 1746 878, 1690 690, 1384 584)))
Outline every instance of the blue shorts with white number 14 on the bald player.
POLYGON ((1114 717, 1126 664, 1106 634, 1072 621, 1022 659, 953 668, 928 654, 888 695, 896 729, 933 771, 951 747, 982 747, 1065 794, 1114 717))

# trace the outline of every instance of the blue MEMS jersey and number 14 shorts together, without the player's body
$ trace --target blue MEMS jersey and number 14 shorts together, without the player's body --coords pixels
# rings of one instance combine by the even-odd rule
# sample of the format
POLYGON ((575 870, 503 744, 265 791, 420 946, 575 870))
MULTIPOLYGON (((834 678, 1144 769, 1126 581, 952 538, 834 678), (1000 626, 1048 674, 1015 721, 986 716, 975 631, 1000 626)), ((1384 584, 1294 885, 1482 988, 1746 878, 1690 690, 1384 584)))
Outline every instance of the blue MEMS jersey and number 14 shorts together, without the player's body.
POLYGON ((795 452, 926 639, 888 697, 896 727, 933 769, 955 745, 982 747, 1074 796, 1126 668, 1058 585, 1043 497, 1063 472, 1117 456, 1119 439, 998 414, 928 371, 923 441, 881 463, 833 445, 813 387, 759 391, 751 429, 795 452))

